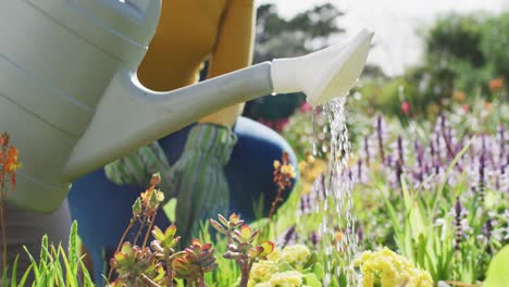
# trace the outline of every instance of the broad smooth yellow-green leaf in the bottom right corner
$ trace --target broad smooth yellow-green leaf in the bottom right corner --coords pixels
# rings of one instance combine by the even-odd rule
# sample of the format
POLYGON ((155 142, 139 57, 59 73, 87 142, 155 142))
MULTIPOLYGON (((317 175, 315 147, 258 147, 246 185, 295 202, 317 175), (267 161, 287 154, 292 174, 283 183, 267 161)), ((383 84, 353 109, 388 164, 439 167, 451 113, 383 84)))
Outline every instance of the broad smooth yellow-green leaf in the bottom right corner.
POLYGON ((509 245, 506 245, 489 263, 483 287, 507 286, 509 282, 509 245))

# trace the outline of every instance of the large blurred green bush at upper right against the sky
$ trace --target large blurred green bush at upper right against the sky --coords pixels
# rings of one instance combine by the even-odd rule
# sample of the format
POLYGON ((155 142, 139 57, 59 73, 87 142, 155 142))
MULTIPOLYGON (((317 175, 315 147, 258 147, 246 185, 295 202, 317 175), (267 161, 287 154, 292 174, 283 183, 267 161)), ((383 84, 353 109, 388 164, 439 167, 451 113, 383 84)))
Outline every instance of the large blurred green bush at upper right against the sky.
POLYGON ((401 104, 408 102, 410 115, 433 118, 454 100, 469 103, 480 95, 507 100, 509 13, 445 15, 422 37, 422 64, 396 78, 368 77, 361 88, 365 100, 359 104, 404 118, 409 114, 401 111, 401 104), (493 79, 502 83, 497 91, 491 87, 493 79), (456 92, 464 99, 455 99, 456 92))

